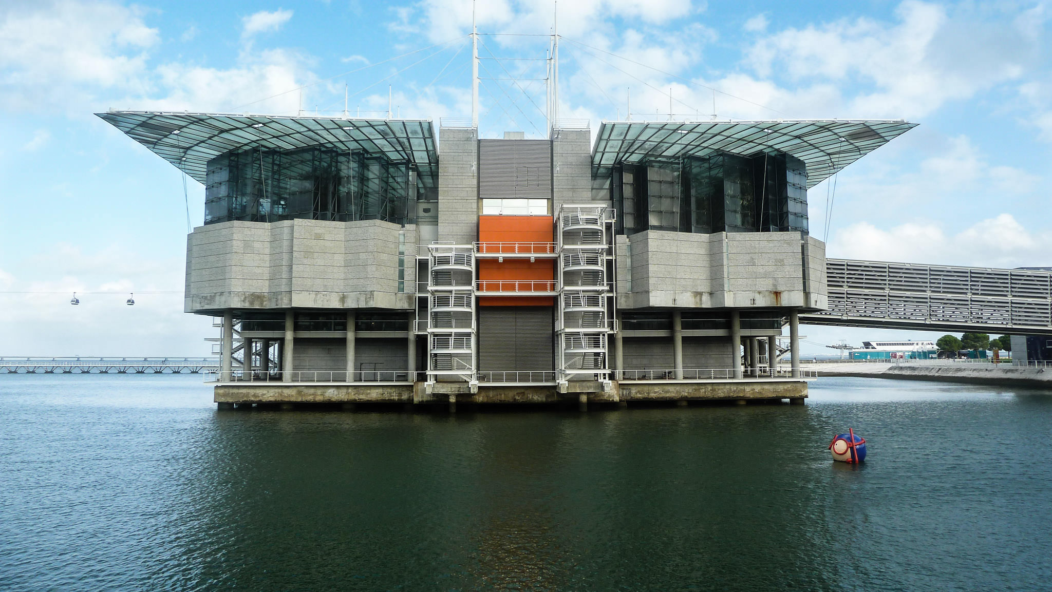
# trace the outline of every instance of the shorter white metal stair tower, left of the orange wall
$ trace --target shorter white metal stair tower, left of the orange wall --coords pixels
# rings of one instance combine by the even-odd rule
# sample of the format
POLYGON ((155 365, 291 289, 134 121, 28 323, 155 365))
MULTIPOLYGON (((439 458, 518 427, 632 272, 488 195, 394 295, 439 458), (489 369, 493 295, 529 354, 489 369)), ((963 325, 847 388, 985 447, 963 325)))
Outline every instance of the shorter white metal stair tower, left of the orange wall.
POLYGON ((451 244, 427 248, 427 380, 474 383, 474 249, 451 244))

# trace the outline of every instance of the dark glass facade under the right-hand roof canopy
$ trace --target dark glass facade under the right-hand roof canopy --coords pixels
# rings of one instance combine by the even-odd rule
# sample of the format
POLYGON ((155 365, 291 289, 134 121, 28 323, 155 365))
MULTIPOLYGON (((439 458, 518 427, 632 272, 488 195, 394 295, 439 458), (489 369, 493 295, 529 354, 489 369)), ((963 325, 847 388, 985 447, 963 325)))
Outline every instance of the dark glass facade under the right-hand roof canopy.
POLYGON ((598 168, 595 177, 610 178, 622 233, 808 231, 807 170, 783 152, 714 150, 598 168))

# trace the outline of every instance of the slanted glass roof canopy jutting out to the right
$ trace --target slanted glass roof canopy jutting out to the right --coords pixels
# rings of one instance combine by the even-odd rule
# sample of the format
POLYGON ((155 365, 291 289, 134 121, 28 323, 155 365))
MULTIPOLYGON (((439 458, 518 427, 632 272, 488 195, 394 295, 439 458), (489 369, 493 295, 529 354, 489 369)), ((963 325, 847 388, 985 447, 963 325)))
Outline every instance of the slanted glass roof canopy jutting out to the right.
POLYGON ((593 166, 638 163, 725 150, 778 150, 807 165, 807 188, 915 127, 903 120, 772 120, 606 122, 592 150, 593 166))

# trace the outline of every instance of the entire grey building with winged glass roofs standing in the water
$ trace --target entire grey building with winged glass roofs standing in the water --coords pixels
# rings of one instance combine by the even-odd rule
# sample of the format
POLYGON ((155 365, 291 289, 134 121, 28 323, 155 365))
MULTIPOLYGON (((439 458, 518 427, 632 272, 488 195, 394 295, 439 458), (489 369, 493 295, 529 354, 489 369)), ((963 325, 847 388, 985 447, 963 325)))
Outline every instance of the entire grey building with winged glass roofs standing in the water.
POLYGON ((100 117, 206 187, 185 309, 222 320, 220 403, 802 402, 807 189, 913 126, 100 117))

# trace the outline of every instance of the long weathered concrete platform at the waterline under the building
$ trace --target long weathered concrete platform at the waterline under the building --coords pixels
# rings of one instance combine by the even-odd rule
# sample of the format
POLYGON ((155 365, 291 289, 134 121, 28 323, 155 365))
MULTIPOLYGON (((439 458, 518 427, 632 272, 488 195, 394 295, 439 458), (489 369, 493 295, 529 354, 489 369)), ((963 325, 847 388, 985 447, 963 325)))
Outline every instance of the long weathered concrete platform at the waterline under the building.
POLYGON ((741 381, 613 381, 570 383, 566 392, 553 385, 479 385, 478 392, 428 392, 425 383, 225 383, 215 388, 215 402, 245 403, 403 403, 403 404, 560 404, 661 401, 747 401, 807 397, 803 379, 741 381))

